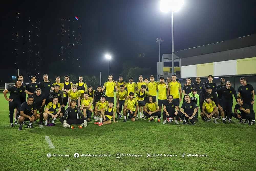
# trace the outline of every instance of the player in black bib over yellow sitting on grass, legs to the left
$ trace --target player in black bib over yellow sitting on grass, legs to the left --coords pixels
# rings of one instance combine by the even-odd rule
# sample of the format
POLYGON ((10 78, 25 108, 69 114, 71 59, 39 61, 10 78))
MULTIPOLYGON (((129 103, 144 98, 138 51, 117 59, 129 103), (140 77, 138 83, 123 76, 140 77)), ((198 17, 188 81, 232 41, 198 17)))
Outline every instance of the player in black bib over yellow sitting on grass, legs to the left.
POLYGON ((114 106, 113 100, 109 101, 109 107, 106 108, 105 110, 101 110, 100 113, 100 122, 94 122, 94 124, 98 124, 99 126, 101 125, 107 125, 111 124, 111 119, 113 118, 114 123, 118 122, 115 121, 115 114, 116 114, 116 107, 114 106))

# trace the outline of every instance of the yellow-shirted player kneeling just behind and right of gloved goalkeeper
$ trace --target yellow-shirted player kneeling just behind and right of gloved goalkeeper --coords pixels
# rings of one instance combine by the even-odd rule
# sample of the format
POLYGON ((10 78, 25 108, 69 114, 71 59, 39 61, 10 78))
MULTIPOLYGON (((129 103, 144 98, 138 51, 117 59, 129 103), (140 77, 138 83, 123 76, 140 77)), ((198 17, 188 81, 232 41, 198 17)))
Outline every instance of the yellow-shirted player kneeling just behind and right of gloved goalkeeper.
POLYGON ((92 117, 92 103, 93 99, 92 97, 89 97, 88 92, 84 92, 83 98, 81 99, 81 111, 83 112, 83 116, 87 118, 87 121, 90 122, 92 117))

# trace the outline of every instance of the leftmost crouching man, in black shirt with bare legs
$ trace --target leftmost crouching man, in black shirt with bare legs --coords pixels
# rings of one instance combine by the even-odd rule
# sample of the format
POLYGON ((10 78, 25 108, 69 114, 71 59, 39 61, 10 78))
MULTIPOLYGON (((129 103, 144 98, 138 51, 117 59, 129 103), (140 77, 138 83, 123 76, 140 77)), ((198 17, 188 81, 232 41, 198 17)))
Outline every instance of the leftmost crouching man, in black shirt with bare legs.
POLYGON ((19 131, 22 130, 22 123, 25 120, 29 120, 27 128, 34 128, 32 123, 39 118, 39 114, 37 114, 36 104, 34 103, 34 97, 29 95, 26 102, 22 103, 20 107, 20 113, 17 116, 17 120, 19 123, 19 131))

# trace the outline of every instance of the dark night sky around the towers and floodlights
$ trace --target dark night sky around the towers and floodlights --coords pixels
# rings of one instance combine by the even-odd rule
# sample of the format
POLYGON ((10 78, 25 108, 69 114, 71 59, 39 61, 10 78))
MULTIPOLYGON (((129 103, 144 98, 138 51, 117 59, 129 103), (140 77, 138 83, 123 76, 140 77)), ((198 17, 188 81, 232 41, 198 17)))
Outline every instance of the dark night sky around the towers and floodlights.
MULTIPOLYGON (((11 59, 13 21, 10 18, 16 12, 42 21, 42 57, 49 63, 58 60, 58 19, 78 16, 84 31, 83 48, 77 53, 88 74, 95 72, 95 64, 102 65, 102 72, 108 71, 106 52, 113 56, 111 73, 120 73, 123 65, 133 65, 150 67, 156 74, 157 37, 164 39, 161 54, 171 52, 170 13, 161 13, 158 0, 8 1, 1 6, 4 40, 1 58, 5 61, 11 59), (139 53, 146 55, 139 58, 139 53)), ((174 51, 253 34, 255 11, 253 0, 185 0, 183 8, 174 13, 174 51)), ((2 69, 7 67, 4 65, 2 69)))

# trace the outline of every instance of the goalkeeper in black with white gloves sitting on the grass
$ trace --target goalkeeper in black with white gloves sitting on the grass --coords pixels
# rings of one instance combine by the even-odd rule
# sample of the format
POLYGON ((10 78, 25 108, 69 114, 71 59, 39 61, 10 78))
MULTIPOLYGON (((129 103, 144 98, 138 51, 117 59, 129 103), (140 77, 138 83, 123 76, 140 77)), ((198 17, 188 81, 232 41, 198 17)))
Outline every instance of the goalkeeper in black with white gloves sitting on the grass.
POLYGON ((64 128, 69 127, 71 129, 74 129, 74 126, 71 126, 71 124, 80 124, 78 128, 83 128, 83 126, 87 126, 86 118, 83 116, 80 108, 77 107, 76 104, 76 100, 72 99, 70 101, 70 106, 65 111, 64 117, 60 118, 60 121, 63 124, 64 128), (79 115, 82 119, 78 119, 77 115, 79 115))

